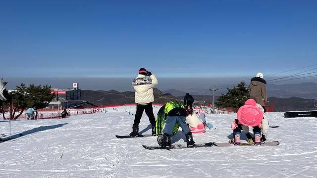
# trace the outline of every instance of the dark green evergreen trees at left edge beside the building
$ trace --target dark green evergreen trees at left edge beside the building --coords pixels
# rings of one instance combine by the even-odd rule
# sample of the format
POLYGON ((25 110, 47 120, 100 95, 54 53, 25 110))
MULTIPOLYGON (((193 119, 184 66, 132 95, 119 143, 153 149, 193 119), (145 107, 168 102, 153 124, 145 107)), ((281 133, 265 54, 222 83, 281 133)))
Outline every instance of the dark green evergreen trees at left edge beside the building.
POLYGON ((4 116, 5 112, 10 112, 12 108, 12 119, 19 118, 23 111, 27 108, 33 107, 35 109, 42 109, 49 105, 55 94, 51 94, 51 86, 35 86, 31 84, 26 87, 25 84, 16 86, 16 90, 8 92, 9 97, 6 101, 3 101, 3 105, 0 108, 3 119, 9 119, 4 116))

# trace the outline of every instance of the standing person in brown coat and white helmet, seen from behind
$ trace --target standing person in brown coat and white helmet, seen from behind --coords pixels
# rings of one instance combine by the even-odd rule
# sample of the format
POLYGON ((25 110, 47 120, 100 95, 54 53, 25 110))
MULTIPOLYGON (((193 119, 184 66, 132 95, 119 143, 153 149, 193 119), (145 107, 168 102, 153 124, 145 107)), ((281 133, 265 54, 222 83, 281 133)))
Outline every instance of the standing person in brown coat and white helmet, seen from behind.
POLYGON ((263 73, 257 73, 256 77, 251 79, 251 83, 248 87, 248 90, 250 93, 250 98, 256 100, 256 102, 264 108, 265 113, 264 103, 267 102, 267 96, 265 87, 266 81, 263 79, 263 77, 263 73))

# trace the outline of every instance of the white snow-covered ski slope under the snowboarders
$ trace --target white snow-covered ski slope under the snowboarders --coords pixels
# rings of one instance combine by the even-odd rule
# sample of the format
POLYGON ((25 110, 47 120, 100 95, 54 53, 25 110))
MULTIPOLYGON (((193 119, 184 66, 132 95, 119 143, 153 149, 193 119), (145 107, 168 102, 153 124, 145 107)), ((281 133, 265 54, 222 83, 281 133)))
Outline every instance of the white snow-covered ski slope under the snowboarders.
MULTIPOLYGON (((132 130, 135 106, 68 119, 19 120, 11 133, 24 136, 0 143, 0 178, 315 178, 317 118, 283 118, 267 113, 268 139, 280 145, 146 150, 156 137, 118 139, 132 130), (125 111, 125 109, 127 111, 125 111)), ((157 113, 159 106, 154 108, 157 113)), ((194 134, 197 143, 227 142, 235 114, 208 114, 215 130, 194 134)), ((150 134, 147 116, 141 134, 150 134)), ((0 121, 0 134, 9 123, 0 121)), ((242 139, 246 137, 242 134, 242 139)), ((245 141, 245 140, 243 140, 245 141)), ((172 142, 185 144, 181 131, 172 142)))

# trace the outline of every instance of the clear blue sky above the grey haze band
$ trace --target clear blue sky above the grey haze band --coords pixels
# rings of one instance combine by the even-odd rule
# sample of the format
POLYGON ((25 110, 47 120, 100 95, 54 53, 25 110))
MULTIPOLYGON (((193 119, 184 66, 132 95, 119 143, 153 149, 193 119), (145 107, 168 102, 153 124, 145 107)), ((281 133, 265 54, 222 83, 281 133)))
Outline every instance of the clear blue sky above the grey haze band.
MULTIPOLYGON (((316 63, 316 0, 2 0, 0 76, 253 77, 316 63)), ((286 75, 286 74, 285 74, 286 75)))

